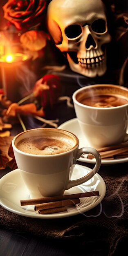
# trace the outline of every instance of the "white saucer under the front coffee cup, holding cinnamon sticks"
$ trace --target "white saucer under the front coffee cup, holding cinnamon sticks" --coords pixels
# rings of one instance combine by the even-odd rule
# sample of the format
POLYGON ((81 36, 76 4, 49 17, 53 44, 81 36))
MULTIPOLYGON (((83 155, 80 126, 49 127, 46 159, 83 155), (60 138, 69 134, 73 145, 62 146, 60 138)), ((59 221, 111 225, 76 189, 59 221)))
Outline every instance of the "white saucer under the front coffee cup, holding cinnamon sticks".
MULTIPOLYGON (((72 180, 78 179, 90 171, 90 168, 76 164, 72 180)), ((0 205, 8 211, 26 217, 40 219, 64 218, 80 213, 84 214, 97 206, 106 194, 106 184, 99 174, 95 174, 88 182, 65 191, 65 194, 74 194, 95 190, 99 190, 99 196, 80 198, 80 203, 76 204, 76 207, 68 207, 65 212, 39 214, 34 211, 34 205, 20 206, 20 200, 29 199, 29 191, 21 179, 19 170, 16 169, 0 179, 0 205)))

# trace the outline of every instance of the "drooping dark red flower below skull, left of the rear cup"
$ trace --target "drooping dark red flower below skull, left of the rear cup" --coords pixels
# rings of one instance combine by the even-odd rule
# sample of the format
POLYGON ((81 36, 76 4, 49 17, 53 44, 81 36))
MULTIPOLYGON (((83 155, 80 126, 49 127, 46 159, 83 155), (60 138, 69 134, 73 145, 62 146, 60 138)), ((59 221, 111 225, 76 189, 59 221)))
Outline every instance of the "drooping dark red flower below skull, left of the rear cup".
POLYGON ((61 82, 59 76, 48 74, 38 80, 34 86, 34 96, 45 108, 56 103, 61 94, 61 82))

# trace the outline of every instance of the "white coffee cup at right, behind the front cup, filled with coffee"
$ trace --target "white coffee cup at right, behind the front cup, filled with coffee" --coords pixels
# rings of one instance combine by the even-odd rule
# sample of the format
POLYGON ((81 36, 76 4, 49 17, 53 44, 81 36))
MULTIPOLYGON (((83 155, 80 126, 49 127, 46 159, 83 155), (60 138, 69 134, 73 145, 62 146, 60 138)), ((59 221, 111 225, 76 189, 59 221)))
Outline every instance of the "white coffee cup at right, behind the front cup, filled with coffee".
POLYGON ((99 149, 128 140, 128 88, 88 85, 76 90, 72 99, 86 145, 99 149))

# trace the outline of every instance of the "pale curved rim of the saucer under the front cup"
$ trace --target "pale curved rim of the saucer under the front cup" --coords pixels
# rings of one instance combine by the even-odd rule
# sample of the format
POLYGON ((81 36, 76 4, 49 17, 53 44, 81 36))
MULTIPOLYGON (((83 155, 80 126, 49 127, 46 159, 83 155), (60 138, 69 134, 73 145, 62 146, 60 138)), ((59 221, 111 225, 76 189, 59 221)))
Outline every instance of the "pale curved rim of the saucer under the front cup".
MULTIPOLYGON (((80 164, 76 164, 76 167, 82 167, 84 169, 86 169, 87 171, 91 171, 92 169, 87 167, 87 166, 83 166, 83 165, 80 165, 80 164)), ((20 172, 19 172, 19 169, 15 169, 13 171, 10 171, 9 173, 7 173, 6 175, 4 175, 1 179, 0 179, 0 183, 2 184, 3 181, 7 179, 9 179, 9 176, 10 175, 13 175, 13 174, 19 174, 20 175, 20 172)), ((106 184, 103 180, 103 178, 101 177, 101 175, 99 175, 98 173, 96 173, 94 175, 97 180, 99 180, 99 182, 101 183, 101 195, 99 196, 99 198, 97 197, 97 200, 94 201, 93 203, 90 203, 90 205, 88 206, 83 206, 83 210, 81 210, 81 212, 79 211, 75 211, 75 209, 73 209, 72 211, 70 212, 63 212, 62 214, 59 214, 59 213, 52 213, 52 214, 33 214, 33 213, 29 213, 25 210, 25 212, 21 212, 19 210, 16 210, 16 209, 13 209, 11 207, 9 207, 7 204, 3 203, 2 200, 1 200, 1 196, 0 196, 0 205, 4 208, 4 209, 7 209, 8 211, 12 212, 12 213, 15 213, 17 215, 20 215, 20 216, 25 216, 25 217, 29 217, 29 218, 38 218, 38 219, 54 219, 54 218, 67 218, 67 217, 70 217, 70 216, 75 216, 75 215, 78 215, 80 213, 84 213, 86 211, 89 211, 90 209, 93 209, 94 207, 96 207, 104 198, 105 194, 106 194, 106 184), (89 208, 89 209, 85 209, 85 208, 89 208)), ((0 184, 0 190, 1 190, 1 184, 0 184)), ((84 183, 83 183, 84 184, 84 183)), ((21 179, 20 181, 20 184, 19 185, 22 185, 22 186, 25 186, 23 180, 21 179)), ((81 184, 82 185, 82 184, 81 184)), ((81 185, 78 185, 76 187, 79 187, 81 185)), ((27 191, 27 188, 25 188, 26 191, 27 191)), ((28 192, 29 193, 29 192, 28 192)), ((29 195, 29 194, 28 194, 29 195)), ((5 198, 6 199, 6 198, 5 198)), ((18 204, 17 204, 17 207, 18 207, 18 204)))

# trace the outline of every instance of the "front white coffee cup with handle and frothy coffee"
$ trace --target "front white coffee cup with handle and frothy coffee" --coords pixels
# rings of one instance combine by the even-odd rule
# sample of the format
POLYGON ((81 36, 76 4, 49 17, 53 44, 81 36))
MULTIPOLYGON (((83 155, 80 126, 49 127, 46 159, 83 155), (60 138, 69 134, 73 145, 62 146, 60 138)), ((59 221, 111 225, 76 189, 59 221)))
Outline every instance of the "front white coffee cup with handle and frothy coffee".
POLYGON ((31 198, 63 195, 65 190, 90 180, 101 166, 101 156, 97 150, 87 147, 79 149, 79 139, 76 135, 61 129, 37 128, 21 132, 13 138, 12 146, 21 177, 29 189, 31 198), (22 139, 26 138, 25 144, 21 143, 22 139), (56 140, 55 143, 53 139, 56 140), (27 151, 28 147, 31 148, 31 140, 37 152, 27 151), (23 148, 20 148, 19 144, 23 144, 23 148), (96 164, 84 177, 71 180, 76 160, 84 153, 94 155, 96 164))

